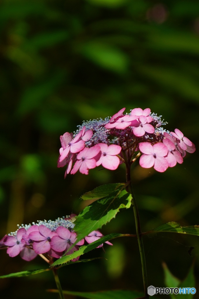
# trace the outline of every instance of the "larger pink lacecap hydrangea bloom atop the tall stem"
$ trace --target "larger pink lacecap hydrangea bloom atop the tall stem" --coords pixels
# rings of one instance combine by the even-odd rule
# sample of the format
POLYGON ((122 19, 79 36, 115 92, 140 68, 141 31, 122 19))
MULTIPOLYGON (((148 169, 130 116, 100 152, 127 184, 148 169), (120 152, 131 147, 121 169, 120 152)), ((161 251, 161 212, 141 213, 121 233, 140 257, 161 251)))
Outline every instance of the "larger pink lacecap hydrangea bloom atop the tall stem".
POLYGON ((183 163, 186 152, 195 152, 195 145, 179 129, 166 131, 167 124, 149 108, 125 108, 107 117, 84 121, 74 133, 60 136, 58 167, 66 165, 67 174, 88 174, 89 169, 102 166, 115 170, 119 164, 132 164, 140 156, 144 168, 164 172, 183 163))

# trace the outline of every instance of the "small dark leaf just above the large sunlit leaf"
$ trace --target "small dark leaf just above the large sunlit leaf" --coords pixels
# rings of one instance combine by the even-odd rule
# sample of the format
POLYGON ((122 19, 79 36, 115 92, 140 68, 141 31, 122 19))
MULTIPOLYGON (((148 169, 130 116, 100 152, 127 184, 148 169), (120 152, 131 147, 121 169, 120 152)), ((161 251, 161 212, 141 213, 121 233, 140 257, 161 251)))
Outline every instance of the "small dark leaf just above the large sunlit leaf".
POLYGON ((99 186, 92 191, 86 192, 81 196, 81 199, 88 200, 88 199, 100 199, 108 194, 116 191, 116 189, 124 188, 125 183, 116 183, 116 184, 106 184, 99 186))

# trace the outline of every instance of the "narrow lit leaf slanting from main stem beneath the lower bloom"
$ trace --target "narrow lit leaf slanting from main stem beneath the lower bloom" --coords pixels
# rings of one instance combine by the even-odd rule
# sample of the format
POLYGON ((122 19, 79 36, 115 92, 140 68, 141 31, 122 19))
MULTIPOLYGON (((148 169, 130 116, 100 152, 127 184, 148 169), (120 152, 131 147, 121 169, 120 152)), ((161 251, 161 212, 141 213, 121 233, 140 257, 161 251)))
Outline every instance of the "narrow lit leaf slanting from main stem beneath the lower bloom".
POLYGON ((56 260, 51 265, 51 267, 54 267, 54 266, 57 266, 57 265, 63 265, 65 263, 69 262, 70 260, 72 260, 72 259, 74 259, 76 257, 79 257, 80 255, 82 255, 82 254, 84 254, 86 252, 89 252, 92 249, 95 249, 96 247, 98 247, 99 245, 101 245, 102 243, 104 243, 106 241, 109 241, 111 239, 115 239, 115 238, 118 238, 118 237, 123 237, 123 236, 124 236, 124 234, 119 234, 119 233, 109 234, 109 235, 107 235, 105 237, 102 237, 102 238, 98 239, 95 242, 92 242, 91 244, 88 244, 88 245, 85 245, 85 246, 81 246, 78 251, 75 251, 72 254, 68 254, 68 255, 66 255, 64 257, 61 257, 60 259, 56 260))

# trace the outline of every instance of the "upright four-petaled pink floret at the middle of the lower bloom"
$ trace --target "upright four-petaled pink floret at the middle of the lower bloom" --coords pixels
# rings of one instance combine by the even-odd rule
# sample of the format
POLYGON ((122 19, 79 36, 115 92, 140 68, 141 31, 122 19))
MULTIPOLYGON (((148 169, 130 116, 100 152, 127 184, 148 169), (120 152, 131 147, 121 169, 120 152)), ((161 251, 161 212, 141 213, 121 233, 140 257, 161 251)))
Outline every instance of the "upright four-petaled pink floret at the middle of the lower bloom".
POLYGON ((51 249, 51 238, 56 236, 55 231, 51 231, 45 225, 39 225, 38 231, 29 234, 29 238, 33 240, 33 249, 37 254, 43 254, 51 249))

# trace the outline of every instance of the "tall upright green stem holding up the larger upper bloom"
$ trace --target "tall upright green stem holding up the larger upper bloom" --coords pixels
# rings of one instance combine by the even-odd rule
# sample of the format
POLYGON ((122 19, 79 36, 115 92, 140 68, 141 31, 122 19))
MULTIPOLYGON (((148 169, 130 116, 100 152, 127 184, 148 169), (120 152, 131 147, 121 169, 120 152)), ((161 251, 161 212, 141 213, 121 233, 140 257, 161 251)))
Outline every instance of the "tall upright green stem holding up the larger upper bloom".
POLYGON ((130 177, 130 161, 128 161, 127 156, 123 152, 125 164, 126 164, 126 181, 128 184, 127 191, 132 195, 132 204, 133 204, 133 213, 135 217, 135 225, 136 225, 136 236, 138 240, 139 245, 139 252, 140 252, 140 258, 141 258, 141 264, 142 264, 142 278, 143 278, 143 284, 144 284, 144 292, 145 297, 149 298, 148 295, 148 282, 147 282, 147 270, 146 270, 146 260, 145 260, 145 252, 144 252, 144 245, 142 240, 142 231, 141 231, 141 225, 140 225, 140 219, 139 219, 139 212, 138 207, 135 199, 135 195, 133 192, 133 186, 131 183, 131 177, 130 177))

